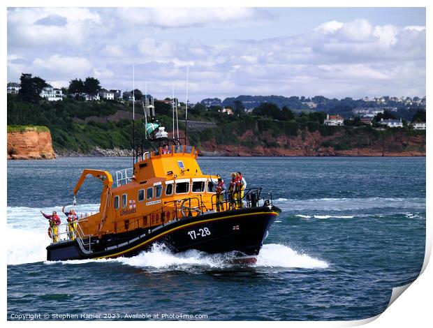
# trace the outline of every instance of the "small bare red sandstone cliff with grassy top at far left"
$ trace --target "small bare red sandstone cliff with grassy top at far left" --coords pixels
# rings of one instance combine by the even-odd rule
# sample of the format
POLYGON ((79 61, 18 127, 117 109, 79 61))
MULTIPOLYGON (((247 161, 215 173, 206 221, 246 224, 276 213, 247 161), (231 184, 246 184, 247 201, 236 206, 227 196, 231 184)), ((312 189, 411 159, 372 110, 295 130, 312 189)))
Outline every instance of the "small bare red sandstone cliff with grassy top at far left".
POLYGON ((8 132, 8 159, 52 159, 56 154, 52 149, 50 131, 8 132))

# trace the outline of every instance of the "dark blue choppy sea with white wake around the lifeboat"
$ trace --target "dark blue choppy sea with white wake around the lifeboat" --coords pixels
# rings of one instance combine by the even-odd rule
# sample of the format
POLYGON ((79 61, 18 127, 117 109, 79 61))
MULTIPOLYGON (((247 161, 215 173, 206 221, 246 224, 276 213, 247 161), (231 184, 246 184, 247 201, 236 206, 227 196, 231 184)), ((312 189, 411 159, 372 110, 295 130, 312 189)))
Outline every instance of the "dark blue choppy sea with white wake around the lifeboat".
MULTIPOLYGON (((283 210, 254 266, 163 246, 131 259, 44 262, 39 209, 71 204, 85 167, 129 158, 8 162, 8 319, 16 313, 207 315, 207 320, 357 320, 383 312, 416 279, 425 250, 425 158, 200 158, 209 174, 240 170, 283 210)), ((78 195, 98 208, 98 181, 78 195)), ((174 319, 176 319, 174 318, 174 319)), ((163 318, 166 320, 166 318, 163 318)))

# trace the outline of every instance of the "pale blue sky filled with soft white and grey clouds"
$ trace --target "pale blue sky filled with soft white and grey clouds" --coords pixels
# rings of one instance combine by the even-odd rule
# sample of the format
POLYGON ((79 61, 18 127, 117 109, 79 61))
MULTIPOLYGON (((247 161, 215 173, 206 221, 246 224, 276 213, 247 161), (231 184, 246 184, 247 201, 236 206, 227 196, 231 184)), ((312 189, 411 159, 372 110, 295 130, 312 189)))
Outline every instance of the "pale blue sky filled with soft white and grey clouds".
POLYGON ((9 82, 186 100, 425 96, 425 8, 8 8, 9 82))

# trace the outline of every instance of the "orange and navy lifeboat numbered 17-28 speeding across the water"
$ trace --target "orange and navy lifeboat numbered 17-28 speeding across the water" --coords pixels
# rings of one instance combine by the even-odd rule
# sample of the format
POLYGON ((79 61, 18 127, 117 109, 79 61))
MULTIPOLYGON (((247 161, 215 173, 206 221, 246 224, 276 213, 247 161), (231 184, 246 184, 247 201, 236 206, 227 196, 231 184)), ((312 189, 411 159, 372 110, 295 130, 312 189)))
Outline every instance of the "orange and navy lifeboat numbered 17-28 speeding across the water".
POLYGON ((99 210, 78 218, 73 237, 65 233, 47 246, 47 260, 131 257, 158 243, 173 253, 229 252, 240 262, 255 262, 281 213, 272 195, 265 199, 262 188, 247 188, 234 202, 226 192, 217 211, 218 176, 200 170, 198 150, 169 138, 155 122, 146 123, 145 139, 136 143, 133 167, 117 171, 115 181, 107 171, 82 172, 74 200, 85 179, 94 177, 102 183, 99 210), (142 151, 146 143, 151 151, 142 151))

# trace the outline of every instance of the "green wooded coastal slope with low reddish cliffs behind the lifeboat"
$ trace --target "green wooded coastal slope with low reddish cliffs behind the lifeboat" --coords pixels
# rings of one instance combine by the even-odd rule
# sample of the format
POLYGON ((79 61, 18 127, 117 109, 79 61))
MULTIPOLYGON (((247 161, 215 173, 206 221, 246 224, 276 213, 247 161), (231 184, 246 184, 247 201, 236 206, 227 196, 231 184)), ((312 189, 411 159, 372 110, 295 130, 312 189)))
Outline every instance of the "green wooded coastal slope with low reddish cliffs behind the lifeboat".
MULTIPOLYGON (((136 137, 144 126, 141 105, 141 100, 135 105, 136 137)), ((179 103, 179 117, 184 117, 184 105, 179 103)), ((189 107, 188 143, 200 156, 425 156, 425 131, 413 130, 407 122, 403 128, 383 128, 346 119, 344 126, 325 126, 325 112, 296 112, 265 103, 247 113, 240 106, 233 108, 233 115, 200 103, 189 107)), ((169 99, 155 102, 156 117, 170 135, 171 110, 169 99)), ((50 131, 59 157, 132 156, 129 101, 67 97, 31 103, 8 94, 7 114, 8 133, 50 131)), ((179 134, 184 136, 182 119, 179 134)))

